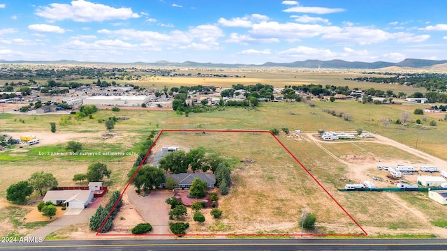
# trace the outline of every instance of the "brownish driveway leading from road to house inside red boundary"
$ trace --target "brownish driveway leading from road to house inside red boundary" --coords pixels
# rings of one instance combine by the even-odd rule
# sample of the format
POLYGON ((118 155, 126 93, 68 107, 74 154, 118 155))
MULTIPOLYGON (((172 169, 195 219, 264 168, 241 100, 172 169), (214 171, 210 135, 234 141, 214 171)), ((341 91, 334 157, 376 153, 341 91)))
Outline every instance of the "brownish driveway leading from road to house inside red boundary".
POLYGON ((170 190, 157 190, 151 192, 146 197, 137 195, 135 188, 129 187, 126 190, 129 202, 135 207, 135 211, 152 225, 150 234, 171 234, 169 231, 169 211, 170 206, 166 204, 166 199, 173 197, 170 190))

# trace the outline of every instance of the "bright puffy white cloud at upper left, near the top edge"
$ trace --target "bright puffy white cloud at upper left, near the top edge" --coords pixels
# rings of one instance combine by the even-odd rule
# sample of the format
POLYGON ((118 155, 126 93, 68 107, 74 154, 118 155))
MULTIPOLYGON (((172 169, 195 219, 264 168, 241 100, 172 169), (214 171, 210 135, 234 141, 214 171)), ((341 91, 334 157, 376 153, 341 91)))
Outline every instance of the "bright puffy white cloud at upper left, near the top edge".
POLYGON ((85 0, 73 0, 70 4, 51 3, 39 6, 36 15, 47 20, 73 20, 75 22, 102 22, 105 20, 127 20, 140 17, 131 8, 113 8, 85 0))

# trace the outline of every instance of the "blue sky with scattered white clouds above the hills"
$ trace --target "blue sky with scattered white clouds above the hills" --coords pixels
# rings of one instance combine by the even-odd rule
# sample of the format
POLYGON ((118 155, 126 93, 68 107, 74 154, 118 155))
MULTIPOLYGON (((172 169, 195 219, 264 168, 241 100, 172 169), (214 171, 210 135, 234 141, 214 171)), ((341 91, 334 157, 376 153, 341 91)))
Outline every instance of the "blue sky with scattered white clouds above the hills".
POLYGON ((445 0, 33 2, 0 0, 0 59, 447 59, 445 0))

